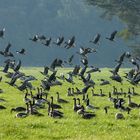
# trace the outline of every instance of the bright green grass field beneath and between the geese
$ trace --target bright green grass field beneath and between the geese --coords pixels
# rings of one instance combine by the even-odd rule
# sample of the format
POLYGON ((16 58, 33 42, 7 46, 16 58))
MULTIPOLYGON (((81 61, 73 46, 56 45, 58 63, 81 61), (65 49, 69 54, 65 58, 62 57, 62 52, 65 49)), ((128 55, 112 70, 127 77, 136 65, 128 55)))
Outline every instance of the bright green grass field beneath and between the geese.
MULTIPOLYGON (((35 87, 40 85, 40 79, 44 77, 39 73, 43 68, 22 68, 21 71, 26 75, 34 75, 37 77, 37 81, 33 82, 35 87)), ((63 72, 67 73, 70 69, 59 69, 58 74, 63 72)), ((110 73, 108 68, 102 69, 101 73, 93 73, 92 79, 95 81, 95 93, 99 93, 98 79, 109 79, 110 73)), ((128 69, 122 69, 120 75, 124 75, 124 72, 128 69)), ((82 119, 73 111, 73 97, 67 97, 67 88, 78 86, 82 89, 83 84, 78 78, 74 78, 76 85, 70 85, 64 82, 62 86, 56 86, 51 88, 49 97, 52 95, 56 99, 56 91, 60 92, 60 97, 70 101, 69 104, 62 104, 62 111, 64 112, 64 118, 53 119, 47 115, 47 105, 45 109, 40 109, 39 112, 44 116, 28 116, 24 119, 15 118, 16 113, 10 113, 12 107, 25 106, 23 102, 24 93, 17 90, 14 87, 9 86, 5 81, 9 81, 2 72, 3 80, 0 83, 0 88, 4 90, 3 94, 0 94, 0 98, 6 99, 6 102, 1 102, 1 105, 7 107, 6 110, 0 110, 0 140, 138 140, 140 137, 140 111, 139 109, 133 109, 128 115, 123 112, 125 119, 116 120, 115 114, 119 112, 113 108, 112 103, 108 101, 106 97, 92 97, 91 89, 88 94, 91 104, 99 106, 100 110, 95 111, 96 117, 90 120, 82 119), (103 107, 109 105, 109 113, 104 113, 103 107)), ((17 82, 19 84, 20 81, 17 82)), ((123 84, 111 81, 111 85, 102 86, 103 92, 108 95, 109 91, 112 91, 112 86, 115 85, 118 89, 121 87, 124 91, 128 91, 129 87, 132 87, 125 79, 123 84)), ((136 87, 136 92, 140 93, 139 86, 136 87)), ((33 91, 35 94, 36 91, 33 91)), ((49 98, 48 97, 48 98, 49 98)), ((82 99, 81 95, 78 95, 82 99)), ((132 97, 132 101, 140 103, 140 97, 132 97)), ((127 104, 127 98, 126 104, 127 104)), ((55 101, 56 102, 56 101, 55 101)))

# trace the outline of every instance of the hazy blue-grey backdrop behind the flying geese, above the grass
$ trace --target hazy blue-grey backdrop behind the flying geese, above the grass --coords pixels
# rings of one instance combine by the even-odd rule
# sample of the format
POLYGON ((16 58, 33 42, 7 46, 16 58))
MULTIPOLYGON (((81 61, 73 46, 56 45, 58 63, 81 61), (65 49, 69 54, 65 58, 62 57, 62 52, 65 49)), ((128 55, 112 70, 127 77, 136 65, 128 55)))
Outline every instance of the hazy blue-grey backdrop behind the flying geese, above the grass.
MULTIPOLYGON (((6 28, 5 38, 0 40, 1 49, 12 43, 11 50, 21 48, 26 56, 15 54, 24 66, 49 65, 54 58, 67 59, 79 51, 80 46, 96 47, 98 52, 89 55, 90 65, 112 67, 114 60, 124 51, 132 51, 129 41, 116 37, 115 42, 105 39, 114 30, 122 31, 127 27, 117 15, 111 19, 103 18, 105 9, 88 3, 88 0, 1 0, 0 28, 6 28), (101 34, 99 46, 89 43, 96 33, 101 34), (68 40, 76 36, 76 47, 66 50, 51 45, 47 48, 29 40, 35 34, 52 37, 53 41, 63 35, 68 40)), ((4 58, 0 56, 0 63, 4 58)), ((79 64, 80 57, 75 54, 74 63, 79 64)))

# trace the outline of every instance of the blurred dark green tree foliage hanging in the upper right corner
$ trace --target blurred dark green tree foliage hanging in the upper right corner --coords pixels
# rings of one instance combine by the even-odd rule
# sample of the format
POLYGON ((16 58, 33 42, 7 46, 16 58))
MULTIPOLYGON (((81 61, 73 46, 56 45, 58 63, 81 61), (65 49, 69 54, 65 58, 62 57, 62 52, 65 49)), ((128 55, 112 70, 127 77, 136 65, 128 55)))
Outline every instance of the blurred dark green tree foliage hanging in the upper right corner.
POLYGON ((117 16, 127 26, 120 36, 129 41, 135 55, 140 56, 140 1, 139 0, 86 0, 88 5, 100 7, 102 17, 112 19, 117 16))

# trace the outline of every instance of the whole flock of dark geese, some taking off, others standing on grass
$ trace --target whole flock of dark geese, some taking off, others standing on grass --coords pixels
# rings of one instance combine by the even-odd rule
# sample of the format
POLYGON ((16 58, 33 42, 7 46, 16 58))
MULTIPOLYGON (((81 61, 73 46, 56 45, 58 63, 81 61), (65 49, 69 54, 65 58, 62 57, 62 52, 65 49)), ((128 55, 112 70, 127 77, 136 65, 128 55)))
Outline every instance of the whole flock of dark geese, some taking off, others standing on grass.
MULTIPOLYGON (((4 39, 5 28, 0 30, 0 38, 4 39)), ((117 31, 113 31, 109 37, 106 39, 110 41, 114 41, 117 31)), ((98 45, 101 39, 101 35, 98 33, 90 43, 98 45)), ((64 41, 64 37, 58 37, 55 41, 52 41, 52 38, 47 38, 44 35, 34 35, 29 38, 34 43, 40 43, 47 47, 50 47, 52 44, 63 47, 66 49, 71 49, 76 47, 75 36, 72 36, 69 40, 64 41)), ((4 61, 4 68, 2 72, 5 74, 9 81, 6 81, 7 84, 17 88, 20 91, 25 93, 23 102, 26 107, 15 107, 11 108, 11 112, 17 112, 15 115, 18 118, 24 118, 29 115, 37 115, 44 116, 44 114, 40 113, 38 109, 46 108, 47 105, 47 113, 48 116, 52 118, 62 118, 65 114, 60 111, 62 109, 61 104, 67 105, 72 102, 73 99, 73 109, 77 115, 81 116, 84 119, 91 119, 96 117, 96 110, 101 109, 98 106, 92 105, 90 103, 91 99, 89 98, 89 89, 91 89, 91 95, 97 96, 99 98, 108 99, 109 102, 112 103, 112 107, 116 110, 125 111, 128 114, 133 108, 139 108, 140 104, 132 102, 132 96, 139 96, 139 93, 135 92, 134 86, 138 86, 140 81, 140 70, 139 70, 139 61, 138 57, 132 56, 129 52, 124 52, 120 55, 120 57, 115 60, 115 67, 110 70, 112 79, 115 82, 120 84, 123 83, 123 79, 126 80, 133 85, 132 89, 129 88, 128 92, 124 92, 121 88, 118 90, 115 86, 112 87, 112 91, 107 94, 104 94, 102 86, 111 84, 111 80, 107 79, 99 79, 100 80, 100 93, 95 93, 95 81, 92 79, 92 74, 95 72, 101 72, 101 69, 94 66, 89 66, 88 63, 88 54, 97 52, 93 47, 80 47, 80 50, 75 54, 72 54, 67 60, 62 60, 59 58, 55 58, 50 66, 44 66, 44 70, 40 71, 40 73, 44 76, 44 79, 40 80, 40 85, 38 87, 34 87, 32 81, 38 80, 33 75, 26 75, 21 71, 21 60, 16 61, 14 53, 10 50, 11 43, 8 43, 4 50, 0 51, 0 54, 6 58, 4 61), (81 65, 74 65, 73 58, 74 55, 79 55, 81 58, 81 65), (125 75, 120 76, 119 71, 121 66, 128 61, 132 64, 132 68, 129 72, 125 73, 125 75), (68 73, 60 73, 58 74, 57 67, 64 67, 65 65, 73 67, 68 73), (74 80, 76 78, 76 80, 74 80), (17 81, 21 81, 21 84, 17 84, 17 81), (82 89, 79 89, 78 83, 82 82, 82 89), (54 102, 54 97, 49 94, 49 91, 54 86, 63 86, 64 83, 67 83, 67 96, 70 100, 62 99, 60 93, 56 91, 57 103, 54 102), (34 94, 33 92, 37 92, 34 94), (48 95, 50 96, 48 99, 48 95), (128 103, 126 103, 126 99, 128 103), (82 103, 81 103, 82 102, 82 103)), ((17 50, 16 53, 19 55, 25 55, 26 50, 22 48, 21 50, 17 50)), ((0 77, 0 82, 3 81, 3 77, 0 77)), ((3 93, 3 89, 0 89, 0 93, 3 93)), ((5 99, 0 98, 0 102, 5 102, 5 99)), ((104 106, 105 114, 108 113, 110 106, 104 106)), ((6 109, 5 106, 0 105, 0 110, 6 109)), ((116 119, 124 119, 123 113, 116 113, 116 119)))

